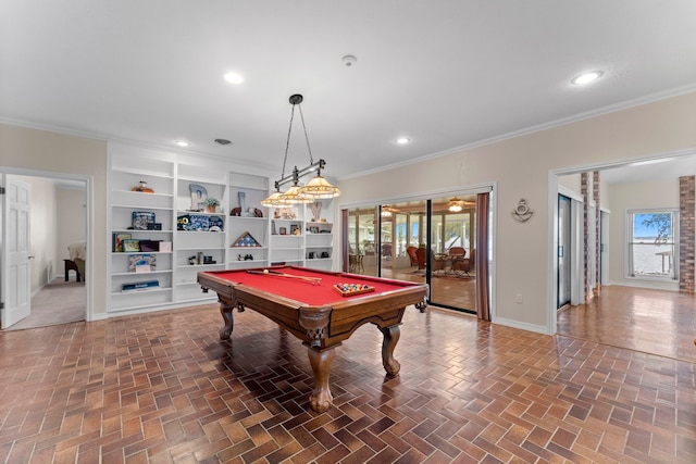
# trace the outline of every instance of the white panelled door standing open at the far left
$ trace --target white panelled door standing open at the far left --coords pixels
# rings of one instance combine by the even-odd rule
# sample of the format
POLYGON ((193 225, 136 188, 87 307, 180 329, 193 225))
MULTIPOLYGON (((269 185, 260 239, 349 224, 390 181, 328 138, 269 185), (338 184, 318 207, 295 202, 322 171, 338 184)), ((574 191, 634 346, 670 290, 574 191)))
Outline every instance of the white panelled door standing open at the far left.
POLYGON ((30 202, 32 186, 7 175, 2 196, 2 328, 32 312, 30 202))

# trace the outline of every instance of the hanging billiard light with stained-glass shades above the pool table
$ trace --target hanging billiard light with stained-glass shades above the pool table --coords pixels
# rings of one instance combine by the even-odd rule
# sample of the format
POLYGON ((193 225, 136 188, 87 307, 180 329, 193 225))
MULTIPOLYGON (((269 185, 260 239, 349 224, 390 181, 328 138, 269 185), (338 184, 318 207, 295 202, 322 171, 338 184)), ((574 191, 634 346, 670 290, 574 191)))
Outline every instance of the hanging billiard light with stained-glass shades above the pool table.
POLYGON ((283 171, 281 172, 281 178, 275 181, 275 192, 269 198, 261 201, 261 204, 269 208, 283 208, 293 204, 313 203, 319 199, 328 199, 338 197, 340 190, 331 185, 324 177, 322 177, 322 170, 326 166, 324 160, 314 162, 312 158, 312 149, 309 146, 309 137, 307 136, 307 126, 304 125, 304 116, 302 115, 302 102, 303 97, 299 93, 290 96, 289 102, 293 105, 290 112, 290 127, 287 131, 287 142, 285 143, 285 158, 283 159, 283 171), (287 152, 290 147, 290 135, 293 134, 293 120, 295 118, 295 106, 299 109, 300 118, 302 121, 302 129, 304 130, 304 140, 307 141, 307 151, 309 153, 309 165, 302 170, 298 170, 297 166, 293 170, 293 174, 285 175, 285 166, 287 163, 287 152), (304 186, 299 185, 300 178, 316 171, 316 175, 304 186), (293 186, 285 192, 281 192, 281 187, 285 184, 293 181, 293 186))

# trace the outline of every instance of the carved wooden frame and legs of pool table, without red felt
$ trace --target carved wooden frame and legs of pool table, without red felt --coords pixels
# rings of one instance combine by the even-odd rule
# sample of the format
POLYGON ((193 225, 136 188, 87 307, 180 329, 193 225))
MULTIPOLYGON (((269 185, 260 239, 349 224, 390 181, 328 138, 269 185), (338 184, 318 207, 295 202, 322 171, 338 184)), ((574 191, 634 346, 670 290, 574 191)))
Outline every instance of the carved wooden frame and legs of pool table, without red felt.
MULTIPOLYGON (((399 374, 399 362, 394 359, 394 349, 399 340, 401 318, 406 306, 414 304, 424 312, 426 309, 427 285, 377 277, 307 269, 296 266, 274 267, 291 273, 293 269, 311 272, 318 276, 340 276, 353 281, 384 283, 394 289, 385 292, 363 293, 349 298, 336 298, 326 305, 309 305, 274 292, 262 291, 250 285, 240 285, 220 275, 243 273, 240 271, 216 271, 198 273, 198 283, 203 292, 213 290, 220 301, 220 313, 224 326, 220 330, 222 340, 229 339, 234 328, 233 311, 245 308, 263 314, 284 329, 302 340, 308 347, 308 355, 314 376, 314 390, 310 396, 311 407, 324 412, 331 407, 333 399, 328 388, 331 364, 336 355, 336 347, 348 339, 358 327, 372 323, 383 334, 382 364, 389 376, 399 374)), ((308 285, 308 291, 311 291, 308 285)), ((279 292, 278 292, 279 293, 279 292)))

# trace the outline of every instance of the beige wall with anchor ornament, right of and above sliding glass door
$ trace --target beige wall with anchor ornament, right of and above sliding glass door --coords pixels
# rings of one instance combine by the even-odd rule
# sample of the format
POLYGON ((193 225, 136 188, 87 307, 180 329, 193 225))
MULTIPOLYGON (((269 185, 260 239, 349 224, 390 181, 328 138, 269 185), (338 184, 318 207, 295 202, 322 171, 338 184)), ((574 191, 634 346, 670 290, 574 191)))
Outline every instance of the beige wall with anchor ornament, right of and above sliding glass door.
POLYGON ((696 149, 694 127, 696 92, 341 179, 343 196, 337 203, 340 208, 371 199, 497 183, 494 322, 551 331, 555 280, 549 264, 549 172, 696 149), (510 214, 520 198, 535 211, 524 224, 510 214), (518 293, 523 296, 522 304, 514 302, 518 293))

